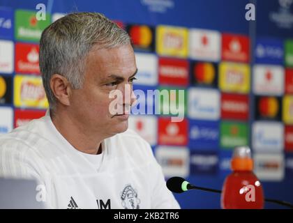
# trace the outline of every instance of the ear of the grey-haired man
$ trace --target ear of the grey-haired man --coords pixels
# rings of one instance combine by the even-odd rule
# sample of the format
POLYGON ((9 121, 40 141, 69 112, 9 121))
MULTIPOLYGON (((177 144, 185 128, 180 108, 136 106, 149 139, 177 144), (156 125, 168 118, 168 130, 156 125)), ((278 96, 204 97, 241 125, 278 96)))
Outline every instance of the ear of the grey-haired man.
POLYGON ((50 87, 54 96, 62 105, 70 105, 71 87, 66 77, 58 74, 52 75, 50 79, 50 87))

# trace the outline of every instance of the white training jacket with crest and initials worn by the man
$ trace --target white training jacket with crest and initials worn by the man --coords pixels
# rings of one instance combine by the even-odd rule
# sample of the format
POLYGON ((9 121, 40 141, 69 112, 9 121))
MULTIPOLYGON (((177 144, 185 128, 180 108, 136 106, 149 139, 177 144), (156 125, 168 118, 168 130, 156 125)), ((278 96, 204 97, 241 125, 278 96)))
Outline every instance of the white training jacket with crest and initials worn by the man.
POLYGON ((77 151, 49 113, 0 137, 0 177, 35 178, 46 208, 180 208, 151 147, 127 130, 77 151))

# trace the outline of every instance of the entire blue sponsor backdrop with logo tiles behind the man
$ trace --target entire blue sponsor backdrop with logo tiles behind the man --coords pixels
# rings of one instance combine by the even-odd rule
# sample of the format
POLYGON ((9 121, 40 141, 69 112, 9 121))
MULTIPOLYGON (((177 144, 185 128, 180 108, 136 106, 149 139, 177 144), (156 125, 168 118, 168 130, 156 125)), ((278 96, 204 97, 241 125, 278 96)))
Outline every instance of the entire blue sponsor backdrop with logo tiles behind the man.
MULTIPOLYGON (((232 148, 249 145, 266 197, 293 202, 293 3, 254 1, 255 22, 245 18, 247 3, 2 0, 0 134, 48 107, 38 68, 43 29, 66 13, 97 11, 133 40, 134 89, 148 98, 140 111, 151 114, 133 115, 130 128, 149 141, 166 178, 220 189, 232 148), (38 3, 47 6, 45 21, 36 20, 38 3), (150 90, 170 98, 154 100, 150 90), (158 109, 163 102, 170 105, 158 109), (184 114, 183 121, 172 122, 169 109, 184 114)), ((218 194, 192 191, 176 198, 182 208, 220 208, 218 194)))

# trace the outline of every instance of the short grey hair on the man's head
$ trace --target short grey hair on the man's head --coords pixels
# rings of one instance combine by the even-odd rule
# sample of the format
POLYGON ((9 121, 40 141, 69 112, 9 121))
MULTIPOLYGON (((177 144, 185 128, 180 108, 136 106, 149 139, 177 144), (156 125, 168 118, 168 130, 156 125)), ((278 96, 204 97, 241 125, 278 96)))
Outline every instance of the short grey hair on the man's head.
POLYGON ((128 33, 100 13, 71 13, 50 24, 40 38, 39 60, 50 109, 54 111, 57 102, 50 88, 52 75, 62 75, 73 89, 80 89, 93 45, 103 49, 128 44, 128 33))

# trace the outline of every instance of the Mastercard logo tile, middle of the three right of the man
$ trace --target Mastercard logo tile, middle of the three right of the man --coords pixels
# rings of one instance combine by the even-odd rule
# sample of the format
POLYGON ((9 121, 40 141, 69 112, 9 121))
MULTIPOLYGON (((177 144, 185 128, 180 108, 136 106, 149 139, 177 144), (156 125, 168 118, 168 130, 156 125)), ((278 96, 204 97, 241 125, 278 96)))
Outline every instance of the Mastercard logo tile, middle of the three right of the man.
POLYGON ((216 76, 216 70, 211 63, 197 63, 193 68, 193 75, 200 84, 211 84, 216 76))

